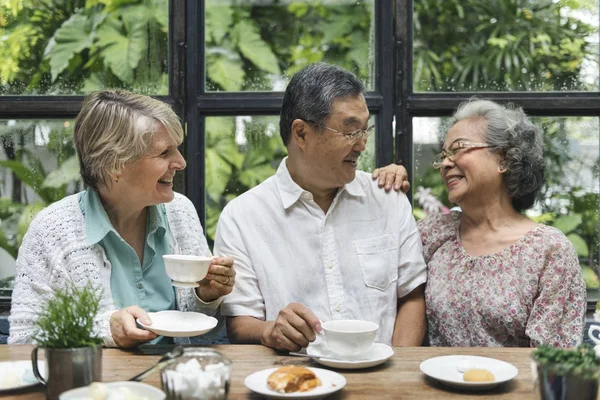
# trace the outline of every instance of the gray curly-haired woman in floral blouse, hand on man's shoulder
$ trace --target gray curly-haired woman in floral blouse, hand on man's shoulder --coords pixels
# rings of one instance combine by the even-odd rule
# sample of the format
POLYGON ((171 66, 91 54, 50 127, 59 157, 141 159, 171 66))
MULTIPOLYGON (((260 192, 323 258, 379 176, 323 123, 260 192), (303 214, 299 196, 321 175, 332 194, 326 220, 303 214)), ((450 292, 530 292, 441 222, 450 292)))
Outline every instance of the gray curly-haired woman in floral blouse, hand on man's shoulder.
MULTIPOLYGON (((586 292, 575 249, 523 211, 544 183, 540 129, 518 108, 460 105, 434 162, 461 211, 419 223, 433 346, 571 347, 581 343, 586 292)), ((374 179, 391 186, 405 171, 374 179)))

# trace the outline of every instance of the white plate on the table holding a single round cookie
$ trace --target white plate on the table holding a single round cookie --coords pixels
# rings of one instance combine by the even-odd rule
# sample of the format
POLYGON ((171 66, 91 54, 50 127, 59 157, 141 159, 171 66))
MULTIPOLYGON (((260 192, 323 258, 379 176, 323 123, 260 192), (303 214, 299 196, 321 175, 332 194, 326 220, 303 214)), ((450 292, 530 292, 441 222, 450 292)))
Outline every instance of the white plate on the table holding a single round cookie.
POLYGON ((461 389, 489 389, 514 379, 519 370, 505 361, 477 356, 443 356, 425 360, 419 366, 425 375, 437 379, 441 383, 461 389), (496 378, 493 382, 465 382, 463 373, 457 369, 459 363, 467 361, 471 368, 482 368, 490 371, 496 378))

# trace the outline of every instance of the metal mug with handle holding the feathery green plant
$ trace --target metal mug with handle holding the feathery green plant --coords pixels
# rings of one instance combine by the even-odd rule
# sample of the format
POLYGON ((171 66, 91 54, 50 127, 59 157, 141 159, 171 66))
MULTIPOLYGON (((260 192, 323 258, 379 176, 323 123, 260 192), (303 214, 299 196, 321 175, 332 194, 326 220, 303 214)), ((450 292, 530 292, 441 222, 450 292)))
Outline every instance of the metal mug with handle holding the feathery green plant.
POLYGON ((33 374, 46 386, 46 398, 58 399, 69 389, 102 381, 102 346, 70 349, 43 349, 46 355, 46 378, 38 370, 38 348, 31 352, 33 374))

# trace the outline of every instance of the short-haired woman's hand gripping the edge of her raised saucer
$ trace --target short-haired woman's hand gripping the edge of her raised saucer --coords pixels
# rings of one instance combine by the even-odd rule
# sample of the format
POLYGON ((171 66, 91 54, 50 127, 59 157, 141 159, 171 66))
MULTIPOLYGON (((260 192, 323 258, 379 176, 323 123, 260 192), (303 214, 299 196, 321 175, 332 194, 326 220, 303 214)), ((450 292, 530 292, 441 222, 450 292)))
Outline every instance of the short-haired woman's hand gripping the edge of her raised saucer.
POLYGON ((137 306, 129 306, 115 311, 110 316, 110 332, 117 346, 135 347, 156 338, 156 334, 137 327, 135 320, 139 318, 144 325, 152 324, 146 311, 137 306))

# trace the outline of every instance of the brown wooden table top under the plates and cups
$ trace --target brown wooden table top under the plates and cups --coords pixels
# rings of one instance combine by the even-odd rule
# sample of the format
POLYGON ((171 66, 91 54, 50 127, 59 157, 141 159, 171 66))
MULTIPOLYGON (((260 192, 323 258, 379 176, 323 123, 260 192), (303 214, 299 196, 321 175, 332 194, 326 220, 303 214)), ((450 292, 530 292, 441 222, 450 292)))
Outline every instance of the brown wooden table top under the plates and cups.
MULTIPOLYGON (((280 355, 258 345, 212 346, 233 361, 231 390, 229 399, 258 399, 244 386, 244 378, 252 372, 287 364, 318 366, 309 359, 280 355)), ((31 346, 0 345, 0 361, 29 359, 31 346)), ((385 364, 365 370, 337 370, 346 377, 346 387, 329 399, 531 399, 533 385, 529 365, 531 349, 491 349, 491 348, 439 348, 439 347, 397 347, 395 355, 385 364), (492 390, 471 392, 441 386, 426 378, 419 370, 419 364, 431 357, 465 354, 492 357, 507 361, 519 369, 519 375, 506 384, 492 390)), ((117 349, 104 349, 102 376, 106 382, 126 380, 153 365, 158 355, 140 355, 117 349)), ((146 381, 160 388, 159 374, 146 381)), ((38 400, 44 399, 40 385, 29 390, 0 396, 2 399, 38 400)))

